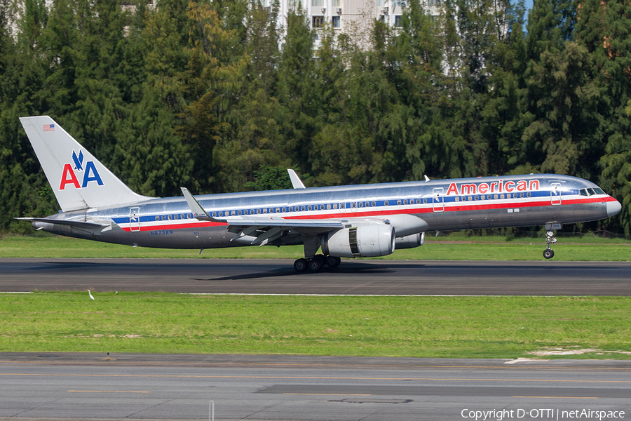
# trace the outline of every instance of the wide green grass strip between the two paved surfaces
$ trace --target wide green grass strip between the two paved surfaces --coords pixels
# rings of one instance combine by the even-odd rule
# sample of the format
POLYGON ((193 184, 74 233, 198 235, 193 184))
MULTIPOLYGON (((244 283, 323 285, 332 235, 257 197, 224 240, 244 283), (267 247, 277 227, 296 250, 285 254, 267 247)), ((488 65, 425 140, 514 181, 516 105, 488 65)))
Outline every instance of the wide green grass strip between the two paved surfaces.
POLYGON ((545 347, 631 351, 631 298, 94 296, 0 294, 0 352, 516 358, 545 347))

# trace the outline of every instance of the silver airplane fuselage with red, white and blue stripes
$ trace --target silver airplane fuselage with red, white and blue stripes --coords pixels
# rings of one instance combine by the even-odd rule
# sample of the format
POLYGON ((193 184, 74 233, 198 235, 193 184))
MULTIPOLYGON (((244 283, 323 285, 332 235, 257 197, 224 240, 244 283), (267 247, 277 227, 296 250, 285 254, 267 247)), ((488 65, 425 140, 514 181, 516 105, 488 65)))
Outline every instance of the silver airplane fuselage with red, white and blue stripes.
MULTIPOLYGON (((374 185, 317 187, 197 196, 213 217, 273 216, 286 219, 387 220, 393 215, 415 215, 427 222, 426 231, 520 227, 548 223, 570 224, 607 218, 607 194, 581 195, 597 185, 566 175, 398 182, 374 185)), ((616 202, 618 203, 618 202, 616 202)), ((50 218, 87 221, 111 220, 107 231, 33 222, 34 227, 64 236, 129 246, 157 248, 223 248, 249 243, 231 241, 222 222, 193 218, 184 197, 149 199, 130 206, 90 208, 59 213, 50 218)), ((395 227, 396 229, 396 227, 395 227)), ((301 243, 300 232, 289 233, 276 245, 301 243)))

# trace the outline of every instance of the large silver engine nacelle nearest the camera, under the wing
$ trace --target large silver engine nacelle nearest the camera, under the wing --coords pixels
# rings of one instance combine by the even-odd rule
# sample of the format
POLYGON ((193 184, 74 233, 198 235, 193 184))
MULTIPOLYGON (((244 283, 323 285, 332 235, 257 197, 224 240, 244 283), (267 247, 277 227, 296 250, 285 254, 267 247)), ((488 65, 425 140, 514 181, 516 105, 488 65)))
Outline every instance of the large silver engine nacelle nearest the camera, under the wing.
POLYGON ((360 225, 330 232, 322 239, 322 251, 337 258, 376 258, 395 250, 392 225, 360 225))

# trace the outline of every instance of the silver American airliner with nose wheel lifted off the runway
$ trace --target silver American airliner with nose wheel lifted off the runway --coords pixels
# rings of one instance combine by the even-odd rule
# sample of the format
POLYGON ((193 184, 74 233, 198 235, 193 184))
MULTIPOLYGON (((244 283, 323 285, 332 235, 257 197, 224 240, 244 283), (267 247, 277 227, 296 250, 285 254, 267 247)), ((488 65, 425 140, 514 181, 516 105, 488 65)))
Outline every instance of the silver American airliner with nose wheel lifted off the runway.
MULTIPOLYGON (((297 272, 337 267, 341 258, 390 255, 423 244, 426 232, 545 225, 554 230, 610 218, 621 205, 588 180, 505 175, 179 197, 141 196, 49 116, 20 118, 61 206, 46 218, 16 218, 62 236, 155 248, 302 244, 297 272), (320 250, 320 253, 318 253, 320 250)), ((200 251, 201 253, 201 251, 200 251)))

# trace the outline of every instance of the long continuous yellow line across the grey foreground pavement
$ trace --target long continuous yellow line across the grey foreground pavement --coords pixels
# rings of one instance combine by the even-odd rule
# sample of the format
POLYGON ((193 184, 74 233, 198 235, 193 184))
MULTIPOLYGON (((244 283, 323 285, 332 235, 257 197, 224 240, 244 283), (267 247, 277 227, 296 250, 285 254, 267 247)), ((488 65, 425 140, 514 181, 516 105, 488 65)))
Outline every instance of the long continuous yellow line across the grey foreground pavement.
POLYGON ((44 374, 44 373, 0 373, 2 375, 24 375, 39 377, 158 377, 158 378, 201 378, 201 379, 280 379, 280 380, 405 380, 437 382, 562 382, 562 383, 631 383, 631 380, 552 380, 552 379, 466 379, 438 377, 315 377, 280 375, 183 375, 183 374, 44 374))

